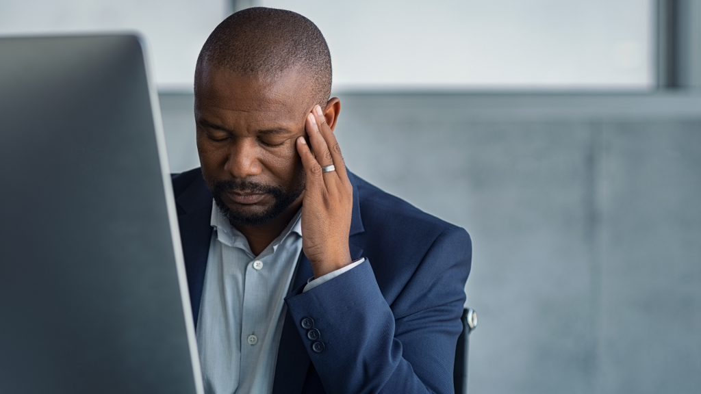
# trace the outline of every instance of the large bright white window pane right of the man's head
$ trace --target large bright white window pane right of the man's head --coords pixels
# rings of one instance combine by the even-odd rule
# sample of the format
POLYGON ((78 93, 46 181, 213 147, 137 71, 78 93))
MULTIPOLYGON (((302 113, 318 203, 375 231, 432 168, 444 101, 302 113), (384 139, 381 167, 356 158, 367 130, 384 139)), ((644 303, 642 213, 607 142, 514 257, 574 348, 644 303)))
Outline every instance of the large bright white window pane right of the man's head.
POLYGON ((259 0, 329 41, 336 88, 648 88, 651 0, 259 0))

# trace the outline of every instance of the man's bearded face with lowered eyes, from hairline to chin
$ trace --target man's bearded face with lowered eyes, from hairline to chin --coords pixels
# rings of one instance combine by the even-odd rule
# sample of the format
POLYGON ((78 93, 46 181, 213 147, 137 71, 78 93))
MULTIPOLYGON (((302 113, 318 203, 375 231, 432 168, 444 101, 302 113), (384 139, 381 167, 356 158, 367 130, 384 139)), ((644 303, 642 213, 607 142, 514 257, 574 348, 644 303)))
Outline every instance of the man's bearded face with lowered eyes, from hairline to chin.
POLYGON ((295 140, 312 106, 304 76, 292 69, 271 81, 205 64, 196 83, 202 173, 229 221, 259 226, 301 201, 295 140))

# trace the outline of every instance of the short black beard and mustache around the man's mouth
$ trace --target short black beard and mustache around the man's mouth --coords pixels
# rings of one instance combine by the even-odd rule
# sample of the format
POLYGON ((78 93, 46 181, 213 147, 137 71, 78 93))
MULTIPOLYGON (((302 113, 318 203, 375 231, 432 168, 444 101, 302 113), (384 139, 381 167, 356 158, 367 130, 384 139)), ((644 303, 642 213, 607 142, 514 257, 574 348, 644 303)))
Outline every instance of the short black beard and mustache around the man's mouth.
POLYGON ((259 184, 257 182, 248 182, 243 179, 227 179, 215 182, 212 187, 212 195, 215 198, 215 203, 219 208, 219 212, 229 220, 233 226, 261 226, 278 217, 285 212, 287 208, 294 203, 295 200, 304 191, 304 172, 301 172, 299 181, 290 191, 285 191, 281 187, 259 184), (250 193, 265 193, 273 197, 273 205, 263 212, 246 214, 229 208, 229 205, 224 203, 222 195, 226 192, 240 191, 250 193))

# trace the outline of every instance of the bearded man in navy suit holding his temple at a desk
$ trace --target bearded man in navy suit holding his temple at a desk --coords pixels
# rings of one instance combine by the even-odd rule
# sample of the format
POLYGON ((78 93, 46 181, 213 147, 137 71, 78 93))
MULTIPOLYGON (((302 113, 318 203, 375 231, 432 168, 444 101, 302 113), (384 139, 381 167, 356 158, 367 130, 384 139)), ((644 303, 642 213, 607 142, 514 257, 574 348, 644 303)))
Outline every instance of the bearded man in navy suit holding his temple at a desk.
POLYGON ((207 393, 452 393, 468 233, 346 170, 308 19, 249 8, 195 76, 173 177, 207 393))

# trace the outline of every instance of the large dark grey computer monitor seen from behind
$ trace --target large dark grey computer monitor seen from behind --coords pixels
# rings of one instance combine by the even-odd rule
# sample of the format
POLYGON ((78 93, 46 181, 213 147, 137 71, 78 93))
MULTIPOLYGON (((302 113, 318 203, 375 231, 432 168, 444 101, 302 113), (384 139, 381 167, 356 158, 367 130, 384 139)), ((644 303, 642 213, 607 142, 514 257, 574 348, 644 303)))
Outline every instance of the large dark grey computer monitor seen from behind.
POLYGON ((203 393, 144 59, 0 39, 0 393, 203 393))

